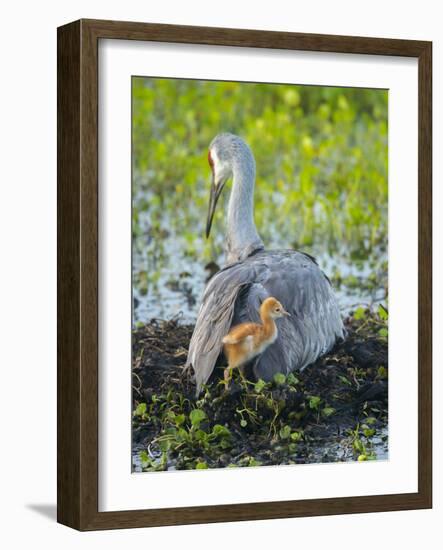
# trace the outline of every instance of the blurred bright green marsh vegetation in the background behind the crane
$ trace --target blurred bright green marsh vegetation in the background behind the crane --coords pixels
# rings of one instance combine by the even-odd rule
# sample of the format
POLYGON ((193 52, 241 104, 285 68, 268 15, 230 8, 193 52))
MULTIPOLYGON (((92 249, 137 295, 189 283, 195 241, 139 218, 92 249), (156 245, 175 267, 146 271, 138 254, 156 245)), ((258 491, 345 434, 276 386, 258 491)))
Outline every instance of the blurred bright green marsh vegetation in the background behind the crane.
MULTIPOLYGON (((204 238, 207 150, 219 132, 254 152, 255 220, 267 247, 369 262, 372 278, 384 262, 386 278, 386 90, 142 77, 132 90, 134 296, 152 298, 149 316, 154 300, 167 300, 165 286, 198 298, 203 266, 223 263, 223 203, 204 238)), ((333 270, 337 280, 348 272, 333 270)))

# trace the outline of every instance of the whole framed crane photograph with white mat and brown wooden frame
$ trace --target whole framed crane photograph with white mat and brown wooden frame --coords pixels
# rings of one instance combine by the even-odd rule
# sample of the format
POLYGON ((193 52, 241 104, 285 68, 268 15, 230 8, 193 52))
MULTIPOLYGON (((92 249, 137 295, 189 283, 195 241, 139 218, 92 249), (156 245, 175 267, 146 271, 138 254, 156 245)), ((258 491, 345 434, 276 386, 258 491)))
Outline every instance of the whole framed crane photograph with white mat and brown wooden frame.
POLYGON ((58 520, 430 508, 431 43, 58 29, 58 520))

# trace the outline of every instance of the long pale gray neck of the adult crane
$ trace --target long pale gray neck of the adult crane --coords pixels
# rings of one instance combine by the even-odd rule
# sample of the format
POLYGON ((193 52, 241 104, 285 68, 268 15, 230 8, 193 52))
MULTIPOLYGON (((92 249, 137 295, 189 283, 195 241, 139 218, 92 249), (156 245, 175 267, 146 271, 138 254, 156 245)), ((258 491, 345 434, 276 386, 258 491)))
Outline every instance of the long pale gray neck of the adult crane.
POLYGON ((228 263, 244 260, 264 248, 254 223, 255 164, 234 160, 232 189, 228 205, 228 263))

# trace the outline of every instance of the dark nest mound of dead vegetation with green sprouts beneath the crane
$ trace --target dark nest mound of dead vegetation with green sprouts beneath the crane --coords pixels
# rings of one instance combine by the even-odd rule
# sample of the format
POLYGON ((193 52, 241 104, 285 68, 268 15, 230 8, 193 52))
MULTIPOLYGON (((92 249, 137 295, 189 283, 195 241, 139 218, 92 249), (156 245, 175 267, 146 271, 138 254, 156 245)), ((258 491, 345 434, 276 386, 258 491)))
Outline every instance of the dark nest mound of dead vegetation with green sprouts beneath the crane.
POLYGON ((370 460, 387 449, 387 314, 360 310, 348 337, 303 372, 224 391, 216 368, 198 400, 193 326, 153 320, 133 333, 136 470, 370 460))

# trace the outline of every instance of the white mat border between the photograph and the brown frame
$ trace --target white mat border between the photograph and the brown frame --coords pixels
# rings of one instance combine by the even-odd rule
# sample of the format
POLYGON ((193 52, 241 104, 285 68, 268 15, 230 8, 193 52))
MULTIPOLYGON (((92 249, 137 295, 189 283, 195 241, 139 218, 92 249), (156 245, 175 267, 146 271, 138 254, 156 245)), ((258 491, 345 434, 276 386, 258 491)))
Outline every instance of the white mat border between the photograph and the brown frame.
POLYGON ((100 511, 417 491, 417 130, 416 59, 100 41, 100 511), (133 75, 389 89, 388 461, 131 473, 133 75))

